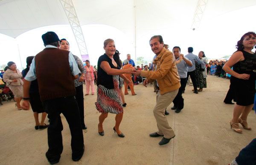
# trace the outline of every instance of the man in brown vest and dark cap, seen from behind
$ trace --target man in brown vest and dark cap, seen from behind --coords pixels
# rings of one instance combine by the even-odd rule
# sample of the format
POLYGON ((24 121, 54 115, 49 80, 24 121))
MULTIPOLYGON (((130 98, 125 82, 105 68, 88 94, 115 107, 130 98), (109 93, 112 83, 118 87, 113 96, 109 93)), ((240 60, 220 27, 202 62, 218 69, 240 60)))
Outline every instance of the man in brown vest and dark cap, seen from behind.
POLYGON ((23 109, 29 109, 29 87, 32 80, 38 80, 39 94, 48 113, 48 145, 46 157, 50 164, 59 162, 63 150, 62 113, 71 132, 72 159, 78 161, 84 154, 84 137, 81 128, 79 108, 75 100, 76 89, 73 79, 78 77, 79 68, 69 51, 58 49, 60 40, 52 31, 42 35, 45 49, 32 60, 29 72, 24 78, 23 109))

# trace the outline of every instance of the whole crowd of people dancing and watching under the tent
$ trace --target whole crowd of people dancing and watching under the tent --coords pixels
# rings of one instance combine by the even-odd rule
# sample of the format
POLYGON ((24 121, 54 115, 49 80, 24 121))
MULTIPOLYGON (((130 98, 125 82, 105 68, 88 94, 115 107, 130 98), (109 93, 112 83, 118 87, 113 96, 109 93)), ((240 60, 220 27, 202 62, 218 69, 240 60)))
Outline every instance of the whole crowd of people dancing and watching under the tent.
MULTIPOLYGON (((204 51, 195 55, 192 47, 187 49, 186 55, 180 53, 179 46, 174 46, 172 51, 169 51, 169 46, 164 44, 163 37, 155 35, 149 40, 151 50, 155 54, 152 63, 135 67, 131 55, 127 54, 127 59, 122 62, 114 40, 107 39, 103 43, 105 53, 99 57, 97 71, 90 65, 89 60, 84 66, 79 57, 69 51, 68 41, 60 40, 55 32, 49 31, 43 34, 42 40, 44 50, 35 57, 27 57, 27 68, 21 73, 14 62, 9 62, 9 68, 3 74, 3 80, 14 93, 19 110, 28 110, 30 103, 35 117, 35 129, 48 128, 49 149, 46 157, 50 164, 58 163, 63 151, 61 113, 64 114, 70 127, 73 161, 78 161, 83 156, 82 129, 87 129, 84 123, 84 81, 85 96, 87 96, 90 87, 91 94, 94 94, 96 80, 95 105, 100 113, 98 123, 100 136, 105 135, 103 123, 108 113, 111 113, 116 115, 114 133, 118 137, 125 137, 120 124, 124 107, 127 105, 125 95, 129 94, 128 88, 134 96, 136 95, 134 91, 136 83, 141 82, 145 87, 148 83, 152 83, 154 92, 157 93, 157 102, 153 108, 157 131, 149 136, 163 137, 159 145, 166 145, 175 137, 175 132, 166 118, 169 114, 166 108, 172 102, 174 106, 171 109, 175 110, 175 113, 180 113, 184 108, 182 94, 185 92, 189 77, 193 83, 193 92, 198 94, 203 91, 203 88, 207 88, 207 74, 224 76, 226 73, 231 75, 230 93, 236 101, 230 127, 240 134, 243 131, 239 128, 239 123, 246 130, 252 129, 248 126, 247 116, 253 108, 256 93, 256 56, 252 52, 256 45, 256 34, 253 32, 248 32, 241 37, 237 43, 237 51, 226 63, 221 61, 208 63, 204 51), (123 85, 125 92, 122 91, 123 85), (20 104, 22 99, 23 102, 20 104), (39 113, 42 113, 41 122, 38 119, 39 113), (44 123, 47 114, 50 120, 49 125, 44 123)), ((255 140, 249 145, 255 146, 255 140)), ((248 148, 251 150, 250 146, 248 148)), ((255 153, 255 148, 253 150, 255 153)), ((242 159, 241 156, 239 159, 242 159)), ((239 162, 239 159, 234 160, 233 163, 239 162)))

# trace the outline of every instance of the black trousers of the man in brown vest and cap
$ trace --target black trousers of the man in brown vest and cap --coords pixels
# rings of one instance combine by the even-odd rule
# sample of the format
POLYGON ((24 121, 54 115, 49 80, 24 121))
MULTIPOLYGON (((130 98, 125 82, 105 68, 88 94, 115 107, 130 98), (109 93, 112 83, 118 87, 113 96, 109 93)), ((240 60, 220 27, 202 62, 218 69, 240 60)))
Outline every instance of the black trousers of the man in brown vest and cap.
POLYGON ((50 125, 47 130, 49 149, 46 153, 48 160, 60 159, 63 145, 62 113, 67 119, 71 132, 72 156, 80 155, 84 148, 84 137, 81 127, 79 109, 75 97, 63 97, 43 102, 44 109, 49 114, 50 125))

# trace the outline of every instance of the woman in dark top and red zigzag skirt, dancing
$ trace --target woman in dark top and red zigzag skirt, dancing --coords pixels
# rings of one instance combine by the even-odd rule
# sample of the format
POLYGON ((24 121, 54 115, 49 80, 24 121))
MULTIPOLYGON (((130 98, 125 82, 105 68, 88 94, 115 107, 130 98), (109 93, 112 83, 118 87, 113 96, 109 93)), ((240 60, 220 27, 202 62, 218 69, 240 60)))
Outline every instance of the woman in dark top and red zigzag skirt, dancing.
POLYGON ((123 107, 120 94, 119 76, 126 82, 130 83, 122 74, 135 73, 134 69, 120 70, 117 61, 113 58, 116 52, 114 40, 107 39, 104 41, 105 54, 99 57, 98 60, 98 80, 97 80, 97 102, 96 109, 102 113, 99 116, 98 132, 101 136, 104 135, 103 122, 108 117, 108 112, 116 114, 116 125, 113 130, 119 137, 125 137, 119 130, 119 125, 122 121, 123 107))

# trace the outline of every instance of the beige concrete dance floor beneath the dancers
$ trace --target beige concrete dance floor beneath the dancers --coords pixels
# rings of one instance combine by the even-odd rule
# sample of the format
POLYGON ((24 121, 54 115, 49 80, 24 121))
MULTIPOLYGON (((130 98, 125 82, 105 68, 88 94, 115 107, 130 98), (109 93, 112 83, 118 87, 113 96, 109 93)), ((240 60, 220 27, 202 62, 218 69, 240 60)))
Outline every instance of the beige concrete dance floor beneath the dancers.
MULTIPOLYGON (((95 87, 96 88, 96 87, 95 87)), ((169 125, 176 137, 164 146, 159 146, 159 138, 148 134, 157 131, 152 109, 155 105, 153 87, 136 85, 136 96, 125 96, 127 106, 120 130, 125 138, 113 132, 115 115, 109 114, 104 122, 105 136, 98 134, 99 113, 94 102, 96 95, 84 97, 85 152, 79 162, 71 159, 70 130, 62 116, 64 150, 60 165, 227 165, 256 135, 255 113, 251 111, 248 123, 252 131, 243 130, 237 134, 230 129, 234 105, 223 103, 229 88, 229 80, 214 76, 207 77, 207 88, 193 94, 192 86, 187 86, 183 97, 184 109, 175 114, 167 108, 169 125)), ((18 111, 15 103, 3 102, 0 106, 0 164, 1 165, 47 165, 45 152, 47 129, 35 130, 32 111, 18 111)), ((241 126, 241 125, 240 125, 241 126)))

